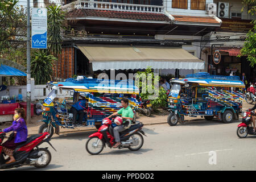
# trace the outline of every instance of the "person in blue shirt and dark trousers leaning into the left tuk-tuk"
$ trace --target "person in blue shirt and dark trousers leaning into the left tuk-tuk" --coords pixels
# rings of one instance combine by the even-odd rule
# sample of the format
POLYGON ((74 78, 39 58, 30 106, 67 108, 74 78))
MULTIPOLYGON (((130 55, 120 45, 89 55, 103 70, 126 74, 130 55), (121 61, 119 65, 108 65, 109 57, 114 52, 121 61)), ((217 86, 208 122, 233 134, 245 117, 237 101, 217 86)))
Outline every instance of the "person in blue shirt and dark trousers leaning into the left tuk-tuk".
POLYGON ((73 122, 72 122, 73 126, 82 125, 82 118, 84 117, 84 113, 86 112, 85 110, 86 100, 85 100, 85 97, 82 97, 82 98, 84 99, 76 102, 71 107, 71 113, 73 114, 73 122), (79 119, 76 122, 77 114, 79 114, 79 119))

